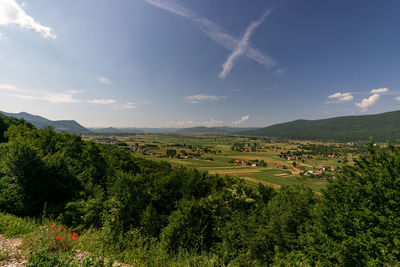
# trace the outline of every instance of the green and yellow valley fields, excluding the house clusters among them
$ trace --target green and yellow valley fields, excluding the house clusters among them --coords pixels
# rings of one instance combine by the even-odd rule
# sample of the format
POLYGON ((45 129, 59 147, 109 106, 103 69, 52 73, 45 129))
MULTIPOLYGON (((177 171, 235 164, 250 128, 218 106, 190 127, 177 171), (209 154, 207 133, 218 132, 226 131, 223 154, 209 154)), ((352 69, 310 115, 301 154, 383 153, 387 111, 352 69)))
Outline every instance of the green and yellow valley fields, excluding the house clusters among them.
MULTIPOLYGON (((338 149, 344 144, 276 141, 250 137, 206 135, 206 134, 138 134, 124 137, 87 137, 96 142, 121 145, 130 149, 135 156, 156 161, 168 161, 174 166, 193 167, 208 171, 211 174, 232 175, 245 179, 250 184, 264 183, 276 188, 283 185, 303 184, 319 192, 326 184, 320 176, 303 176, 292 174, 292 170, 316 171, 323 166, 337 168, 342 164, 340 158, 323 155, 313 155, 301 160, 281 158, 287 151, 299 151, 301 145, 336 145, 338 149), (234 144, 243 144, 244 151, 232 150, 234 144), (257 149, 251 147, 257 144, 257 149), (191 148, 191 149, 190 149, 191 148), (167 150, 175 150, 176 155, 168 157, 167 150), (184 157, 185 154, 198 153, 199 157, 184 157), (212 160, 211 160, 212 159, 212 160), (230 160, 261 161, 267 167, 237 165, 230 160), (293 167, 296 162, 296 167, 293 167), (284 164, 287 169, 278 169, 278 164, 284 164), (300 167, 299 167, 300 166, 300 167)), ((306 151, 307 152, 307 151, 306 151)), ((349 153, 342 153, 349 154, 349 153)), ((351 158, 350 154, 349 157, 351 158)))

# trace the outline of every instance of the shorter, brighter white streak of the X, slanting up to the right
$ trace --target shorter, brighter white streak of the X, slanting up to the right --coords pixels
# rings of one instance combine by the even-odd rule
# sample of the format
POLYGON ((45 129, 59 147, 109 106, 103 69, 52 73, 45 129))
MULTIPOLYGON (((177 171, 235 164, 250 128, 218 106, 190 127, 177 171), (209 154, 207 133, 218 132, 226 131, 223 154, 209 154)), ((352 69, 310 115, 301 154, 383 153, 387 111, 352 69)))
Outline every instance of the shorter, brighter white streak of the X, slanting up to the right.
POLYGON ((228 56, 224 64, 222 64, 222 71, 219 74, 219 78, 224 79, 231 69, 233 68, 234 61, 237 57, 245 53, 249 49, 249 41, 250 37, 255 31, 255 29, 260 26, 260 24, 264 21, 265 17, 271 13, 271 10, 267 10, 261 18, 256 21, 250 23, 249 27, 247 27, 245 33, 243 34, 242 39, 239 40, 236 47, 233 49, 232 53, 228 56))

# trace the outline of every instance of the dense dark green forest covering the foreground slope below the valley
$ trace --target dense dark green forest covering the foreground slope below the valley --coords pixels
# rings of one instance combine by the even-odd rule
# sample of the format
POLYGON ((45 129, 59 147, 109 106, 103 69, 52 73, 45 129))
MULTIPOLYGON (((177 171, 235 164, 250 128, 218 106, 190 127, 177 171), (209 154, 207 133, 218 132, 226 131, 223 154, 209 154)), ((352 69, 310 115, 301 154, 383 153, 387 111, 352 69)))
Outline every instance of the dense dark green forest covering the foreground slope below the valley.
POLYGON ((0 142, 1 212, 56 220, 104 257, 155 266, 400 263, 398 146, 370 144, 318 195, 172 168, 3 115, 0 142))

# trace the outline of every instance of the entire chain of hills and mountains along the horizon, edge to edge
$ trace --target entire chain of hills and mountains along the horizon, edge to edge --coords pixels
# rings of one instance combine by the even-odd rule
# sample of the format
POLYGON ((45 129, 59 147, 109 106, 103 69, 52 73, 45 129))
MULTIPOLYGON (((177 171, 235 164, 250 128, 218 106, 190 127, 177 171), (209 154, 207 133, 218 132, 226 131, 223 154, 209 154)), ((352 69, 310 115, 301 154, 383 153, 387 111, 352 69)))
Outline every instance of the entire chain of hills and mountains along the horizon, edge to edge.
POLYGON ((47 125, 56 131, 74 134, 134 133, 212 133, 282 137, 301 140, 358 141, 373 137, 376 141, 400 140, 400 111, 376 115, 344 116, 322 120, 296 120, 265 128, 191 127, 191 128, 85 128, 74 120, 51 121, 26 112, 0 113, 32 123, 37 128, 47 125))

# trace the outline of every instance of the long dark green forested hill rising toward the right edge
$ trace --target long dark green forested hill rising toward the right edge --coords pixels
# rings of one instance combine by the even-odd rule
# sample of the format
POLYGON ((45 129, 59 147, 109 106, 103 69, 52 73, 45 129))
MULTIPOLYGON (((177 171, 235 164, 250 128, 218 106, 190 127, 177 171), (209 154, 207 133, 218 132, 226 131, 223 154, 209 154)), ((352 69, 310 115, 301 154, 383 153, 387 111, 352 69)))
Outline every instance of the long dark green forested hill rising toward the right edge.
POLYGON ((323 120, 296 120, 240 134, 305 140, 376 141, 400 139, 400 111, 345 116, 323 120))

